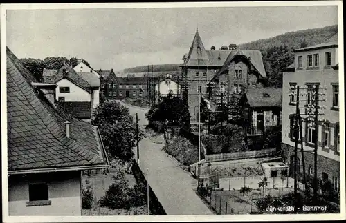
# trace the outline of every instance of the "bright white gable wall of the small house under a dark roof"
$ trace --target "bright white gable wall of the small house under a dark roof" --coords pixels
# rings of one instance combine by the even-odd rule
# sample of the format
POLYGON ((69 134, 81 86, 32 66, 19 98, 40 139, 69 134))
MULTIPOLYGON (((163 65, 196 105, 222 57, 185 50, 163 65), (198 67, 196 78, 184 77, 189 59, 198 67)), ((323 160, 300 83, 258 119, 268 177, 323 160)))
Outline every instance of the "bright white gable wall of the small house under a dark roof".
POLYGON ((65 101, 78 101, 78 102, 86 102, 91 100, 91 94, 89 94, 83 88, 73 84, 68 79, 62 79, 57 82, 56 99, 59 97, 65 97, 65 101), (60 93, 59 87, 70 87, 70 93, 60 93))

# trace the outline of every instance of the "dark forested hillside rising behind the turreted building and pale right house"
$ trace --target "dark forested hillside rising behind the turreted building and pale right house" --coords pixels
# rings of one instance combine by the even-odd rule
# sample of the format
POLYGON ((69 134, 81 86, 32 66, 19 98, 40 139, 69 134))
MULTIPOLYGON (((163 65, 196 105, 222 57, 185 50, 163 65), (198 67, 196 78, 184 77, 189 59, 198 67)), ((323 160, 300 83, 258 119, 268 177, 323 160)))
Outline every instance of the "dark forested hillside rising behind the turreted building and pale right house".
POLYGON ((283 35, 239 44, 240 49, 260 50, 268 76, 268 86, 282 87, 282 70, 294 61, 294 49, 322 43, 338 32, 338 26, 286 32, 283 35))

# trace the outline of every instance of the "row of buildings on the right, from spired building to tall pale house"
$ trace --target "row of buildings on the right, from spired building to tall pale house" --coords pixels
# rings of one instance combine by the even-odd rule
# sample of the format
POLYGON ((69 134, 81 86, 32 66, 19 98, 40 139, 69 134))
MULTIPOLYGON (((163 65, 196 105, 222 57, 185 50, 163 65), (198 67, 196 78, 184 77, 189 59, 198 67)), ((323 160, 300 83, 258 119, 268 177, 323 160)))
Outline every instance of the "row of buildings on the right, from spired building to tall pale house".
MULTIPOLYGON (((316 46, 294 50, 295 61, 284 70, 282 88, 266 87, 259 50, 222 49, 206 50, 197 29, 190 50, 183 57, 183 91, 188 95, 191 124, 199 124, 200 93, 212 111, 223 95, 233 95, 243 108, 246 135, 262 135, 266 128, 282 126, 283 161, 293 176, 296 86, 300 86, 306 89, 300 92, 303 127, 299 142, 306 151, 307 173, 313 175, 313 148, 318 144, 318 177, 331 181, 335 189, 340 188, 338 33, 316 46), (309 121, 313 116, 306 113, 311 108, 314 86, 324 88, 320 108, 325 109, 318 116, 317 141, 315 123, 309 121)), ((301 162, 298 155, 298 175, 303 171, 301 162)))

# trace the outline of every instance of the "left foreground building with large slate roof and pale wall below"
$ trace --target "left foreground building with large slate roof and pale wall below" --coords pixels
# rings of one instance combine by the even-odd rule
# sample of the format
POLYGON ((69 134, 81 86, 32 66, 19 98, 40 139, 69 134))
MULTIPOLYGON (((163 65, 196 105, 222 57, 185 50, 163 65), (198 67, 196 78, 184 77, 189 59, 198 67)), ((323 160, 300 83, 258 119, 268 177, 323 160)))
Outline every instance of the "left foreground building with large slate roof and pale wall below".
POLYGON ((108 168, 97 126, 45 97, 55 84, 35 77, 7 49, 9 215, 82 215, 82 171, 108 168))

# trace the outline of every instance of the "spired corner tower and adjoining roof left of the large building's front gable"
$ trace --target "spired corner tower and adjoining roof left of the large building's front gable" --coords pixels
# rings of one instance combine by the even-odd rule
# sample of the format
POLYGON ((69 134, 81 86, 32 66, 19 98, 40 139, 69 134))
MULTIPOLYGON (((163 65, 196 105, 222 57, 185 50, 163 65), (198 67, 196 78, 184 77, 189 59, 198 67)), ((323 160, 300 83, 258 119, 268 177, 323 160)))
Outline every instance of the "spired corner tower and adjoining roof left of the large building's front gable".
POLYGON ((198 122, 199 90, 206 94, 206 86, 219 69, 224 65, 230 50, 215 50, 204 48, 201 37, 196 30, 194 39, 188 54, 183 56, 182 85, 183 91, 188 95, 188 106, 190 110, 190 121, 198 122))

